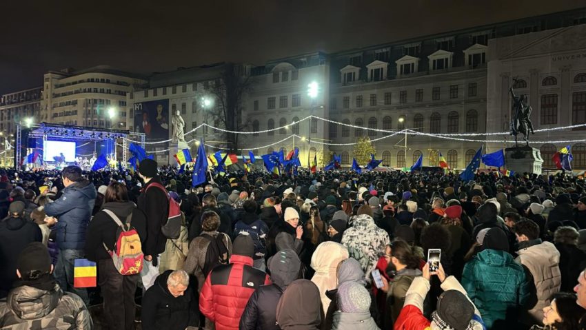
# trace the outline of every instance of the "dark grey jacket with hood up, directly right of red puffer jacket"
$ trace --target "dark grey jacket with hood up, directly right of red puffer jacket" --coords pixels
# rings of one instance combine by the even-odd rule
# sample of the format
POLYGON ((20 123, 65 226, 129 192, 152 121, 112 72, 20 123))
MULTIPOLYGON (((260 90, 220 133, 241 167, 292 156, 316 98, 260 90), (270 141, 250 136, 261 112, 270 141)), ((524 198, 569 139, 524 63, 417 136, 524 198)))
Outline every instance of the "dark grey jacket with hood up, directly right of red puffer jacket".
POLYGON ((276 325, 276 305, 287 287, 299 277, 301 261, 292 249, 283 249, 268 262, 272 285, 256 289, 246 304, 240 330, 279 330, 276 325), (274 259, 278 258, 278 259, 274 259))

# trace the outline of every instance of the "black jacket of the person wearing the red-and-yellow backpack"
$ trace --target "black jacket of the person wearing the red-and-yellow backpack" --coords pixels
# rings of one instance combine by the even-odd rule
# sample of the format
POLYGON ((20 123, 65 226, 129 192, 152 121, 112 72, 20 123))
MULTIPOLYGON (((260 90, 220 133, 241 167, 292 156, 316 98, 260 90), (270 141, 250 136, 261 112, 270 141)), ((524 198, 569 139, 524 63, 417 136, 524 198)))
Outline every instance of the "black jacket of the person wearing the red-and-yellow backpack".
MULTIPOLYGON (((145 242, 147 236, 146 217, 141 210, 134 207, 134 203, 105 203, 103 208, 116 214, 121 223, 125 223, 126 218, 132 214, 130 224, 134 229, 137 229, 141 243, 145 242)), ((88 237, 85 241, 85 258, 91 261, 111 259, 112 257, 110 257, 103 245, 105 244, 110 251, 115 251, 114 243, 118 239, 117 233, 119 229, 120 227, 108 214, 103 211, 98 212, 88 226, 88 237)))

